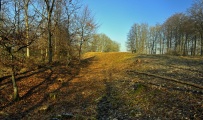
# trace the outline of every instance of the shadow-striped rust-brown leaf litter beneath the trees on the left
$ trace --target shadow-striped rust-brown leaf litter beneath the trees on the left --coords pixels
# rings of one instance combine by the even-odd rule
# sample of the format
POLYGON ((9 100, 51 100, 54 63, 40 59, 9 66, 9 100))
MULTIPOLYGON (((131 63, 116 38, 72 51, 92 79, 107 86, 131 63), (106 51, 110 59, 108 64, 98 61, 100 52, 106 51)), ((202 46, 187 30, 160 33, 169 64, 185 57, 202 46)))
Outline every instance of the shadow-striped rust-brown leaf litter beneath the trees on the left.
MULTIPOLYGON (((19 74, 17 85, 20 99, 17 102, 12 101, 13 89, 9 76, 3 77, 0 82, 0 119, 24 119, 33 113, 47 111, 56 102, 58 93, 68 87, 69 81, 79 72, 79 65, 64 67, 60 64, 19 74), (61 77, 65 78, 61 80, 61 77), (40 110, 43 106, 47 110, 40 110)), ((39 117, 36 115, 36 118, 39 117)))

